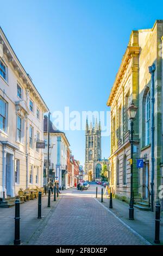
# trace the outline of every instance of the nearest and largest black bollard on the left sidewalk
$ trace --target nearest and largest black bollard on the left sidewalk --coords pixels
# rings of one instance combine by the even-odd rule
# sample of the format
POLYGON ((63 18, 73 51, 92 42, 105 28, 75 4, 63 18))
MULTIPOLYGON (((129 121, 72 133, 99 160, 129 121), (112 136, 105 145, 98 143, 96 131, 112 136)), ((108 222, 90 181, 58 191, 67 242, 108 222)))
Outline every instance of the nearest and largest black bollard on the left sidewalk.
POLYGON ((20 200, 15 201, 15 239, 14 245, 20 245, 20 200))

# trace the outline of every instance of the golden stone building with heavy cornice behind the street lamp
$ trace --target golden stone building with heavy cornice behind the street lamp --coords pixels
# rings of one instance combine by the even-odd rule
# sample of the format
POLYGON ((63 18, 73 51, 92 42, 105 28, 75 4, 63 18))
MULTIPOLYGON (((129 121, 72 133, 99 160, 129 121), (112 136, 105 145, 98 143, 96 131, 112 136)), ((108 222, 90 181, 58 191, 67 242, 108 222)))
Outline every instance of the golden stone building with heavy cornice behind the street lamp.
POLYGON ((154 199, 162 184, 162 35, 163 21, 157 20, 152 29, 133 31, 107 105, 111 107, 111 183, 116 197, 130 197, 130 121, 127 109, 133 101, 138 107, 134 121, 135 199, 148 199, 151 190, 151 74, 154 72, 154 199), (143 159, 143 168, 136 168, 136 159, 143 159))

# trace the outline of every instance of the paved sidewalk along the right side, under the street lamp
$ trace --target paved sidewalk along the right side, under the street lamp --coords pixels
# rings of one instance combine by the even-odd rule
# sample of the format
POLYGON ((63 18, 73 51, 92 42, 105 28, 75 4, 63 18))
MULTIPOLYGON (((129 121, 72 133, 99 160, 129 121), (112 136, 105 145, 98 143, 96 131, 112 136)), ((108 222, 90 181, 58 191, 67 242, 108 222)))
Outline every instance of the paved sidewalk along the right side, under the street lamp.
MULTIPOLYGON (((98 196, 98 201, 101 202, 101 197, 98 196)), ((109 209, 109 198, 103 198, 103 205, 109 209)), ((128 219, 129 215, 129 205, 121 200, 112 199, 112 209, 109 209, 113 212, 118 218, 121 218, 123 222, 133 228, 137 233, 145 237, 153 245, 154 243, 154 234, 155 234, 155 213, 151 211, 141 211, 134 208, 134 221, 128 219)), ((161 216, 160 222, 160 245, 163 245, 163 217, 161 216)))

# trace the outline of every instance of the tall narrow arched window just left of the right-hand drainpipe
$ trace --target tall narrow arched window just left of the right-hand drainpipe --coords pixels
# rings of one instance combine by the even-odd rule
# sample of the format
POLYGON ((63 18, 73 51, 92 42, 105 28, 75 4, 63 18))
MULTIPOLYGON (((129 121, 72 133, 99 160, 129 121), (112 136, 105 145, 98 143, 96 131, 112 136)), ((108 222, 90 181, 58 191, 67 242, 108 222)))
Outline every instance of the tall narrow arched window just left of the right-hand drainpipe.
POLYGON ((150 143, 150 92, 146 96, 146 146, 150 143))

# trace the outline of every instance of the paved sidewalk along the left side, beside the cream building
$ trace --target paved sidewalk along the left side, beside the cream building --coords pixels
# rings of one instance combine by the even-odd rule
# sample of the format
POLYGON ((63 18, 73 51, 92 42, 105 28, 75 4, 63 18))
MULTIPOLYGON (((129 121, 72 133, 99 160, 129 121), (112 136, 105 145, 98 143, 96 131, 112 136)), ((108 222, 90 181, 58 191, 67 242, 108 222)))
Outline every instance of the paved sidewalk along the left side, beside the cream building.
MULTIPOLYGON (((61 197, 61 196, 59 196, 61 197)), ((60 198, 59 198, 60 199, 60 198)), ((43 227, 55 210, 59 199, 53 201, 51 196, 51 208, 47 207, 47 195, 42 197, 42 216, 43 218, 37 219, 37 199, 27 201, 20 205, 20 239, 22 244, 28 244, 32 235, 43 227)), ((14 228, 15 228, 15 206, 11 208, 0 208, 0 245, 12 245, 14 241, 14 228)))

